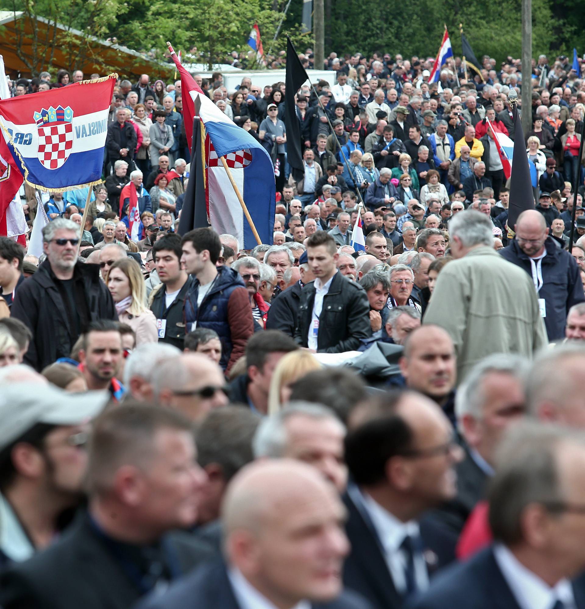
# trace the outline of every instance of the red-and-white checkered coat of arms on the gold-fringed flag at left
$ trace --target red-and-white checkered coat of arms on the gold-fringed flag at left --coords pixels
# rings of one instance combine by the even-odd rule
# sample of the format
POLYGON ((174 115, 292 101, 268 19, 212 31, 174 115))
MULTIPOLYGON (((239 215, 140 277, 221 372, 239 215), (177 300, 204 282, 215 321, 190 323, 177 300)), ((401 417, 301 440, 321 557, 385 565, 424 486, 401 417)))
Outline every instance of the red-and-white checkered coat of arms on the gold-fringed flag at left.
POLYGON ((37 157, 46 169, 59 169, 73 150, 73 110, 58 106, 34 113, 38 129, 37 157))

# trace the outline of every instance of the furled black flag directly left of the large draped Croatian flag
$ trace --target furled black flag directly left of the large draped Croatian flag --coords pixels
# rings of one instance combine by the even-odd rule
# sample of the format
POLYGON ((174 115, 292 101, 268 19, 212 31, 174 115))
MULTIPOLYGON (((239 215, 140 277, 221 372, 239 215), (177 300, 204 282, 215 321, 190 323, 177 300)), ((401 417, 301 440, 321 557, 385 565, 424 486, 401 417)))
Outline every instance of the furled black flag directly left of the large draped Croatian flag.
POLYGON ((205 228, 207 222, 207 200, 205 199, 205 174, 203 158, 205 146, 202 145, 202 127, 199 116, 193 119, 193 140, 191 142, 191 167, 189 171, 189 183, 185 191, 185 199, 181 208, 181 219, 179 222, 179 234, 188 233, 193 228, 205 228))

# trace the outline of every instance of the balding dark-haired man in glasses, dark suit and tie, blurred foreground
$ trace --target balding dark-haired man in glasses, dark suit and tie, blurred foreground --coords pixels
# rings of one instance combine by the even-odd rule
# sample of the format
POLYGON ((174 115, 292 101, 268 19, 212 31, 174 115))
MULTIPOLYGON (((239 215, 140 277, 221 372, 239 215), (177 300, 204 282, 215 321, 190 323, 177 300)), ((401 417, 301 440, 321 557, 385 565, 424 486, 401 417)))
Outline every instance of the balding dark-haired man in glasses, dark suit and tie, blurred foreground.
POLYGON ((361 415, 345 443, 352 549, 343 581, 375 609, 402 607, 428 588, 429 568, 438 566, 440 535, 419 519, 455 497, 454 466, 463 452, 447 417, 419 393, 385 393, 361 415))

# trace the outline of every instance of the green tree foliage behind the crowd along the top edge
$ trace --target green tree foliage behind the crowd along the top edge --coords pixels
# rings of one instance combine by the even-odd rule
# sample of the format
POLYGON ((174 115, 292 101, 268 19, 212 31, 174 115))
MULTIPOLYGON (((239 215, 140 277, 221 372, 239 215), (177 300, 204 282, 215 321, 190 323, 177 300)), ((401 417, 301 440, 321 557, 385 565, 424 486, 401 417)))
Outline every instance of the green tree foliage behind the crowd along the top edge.
MULTIPOLYGON (((489 5, 463 0, 361 0, 335 2, 325 0, 326 54, 374 51, 405 56, 432 57, 436 54, 444 24, 447 24, 453 52, 461 54, 459 23, 478 58, 520 57, 521 0, 492 0, 489 5)), ((300 33, 302 2, 291 2, 277 40, 277 30, 288 0, 0 0, 0 9, 23 11, 35 27, 37 16, 48 20, 46 30, 34 30, 32 49, 18 45, 16 52, 35 76, 51 69, 55 49, 65 52, 69 69, 74 70, 88 57, 99 64, 99 48, 90 37, 118 38, 118 42, 151 57, 162 58, 166 41, 183 53, 196 48, 197 63, 224 63, 230 52, 249 52, 247 35, 258 23, 264 51, 273 54, 286 48, 291 35, 299 52, 314 45, 313 33, 300 33), (66 30, 86 35, 80 48, 73 34, 59 32, 55 23, 66 30), (79 49, 79 50, 78 50, 79 49)), ((585 12, 580 0, 533 0, 534 56, 572 54, 573 46, 585 52, 581 32, 585 29, 585 12)), ((23 33, 24 20, 16 21, 17 37, 23 33), (20 21, 20 23, 19 23, 20 21)), ((0 28, 1 30, 1 28, 0 28)), ((2 33, 0 31, 0 37, 2 33)), ((254 66, 254 54, 250 63, 254 66)), ((107 66, 104 66, 106 68, 107 66)))

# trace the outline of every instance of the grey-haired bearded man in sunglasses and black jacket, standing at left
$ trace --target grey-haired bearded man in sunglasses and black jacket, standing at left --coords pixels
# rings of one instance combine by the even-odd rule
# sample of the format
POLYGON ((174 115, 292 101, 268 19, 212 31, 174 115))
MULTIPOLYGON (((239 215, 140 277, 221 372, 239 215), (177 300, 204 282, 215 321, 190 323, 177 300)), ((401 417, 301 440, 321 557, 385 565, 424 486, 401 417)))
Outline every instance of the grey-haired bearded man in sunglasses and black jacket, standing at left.
POLYGON ((24 281, 11 315, 33 334, 24 362, 42 370, 69 357, 82 329, 98 319, 118 320, 112 295, 99 278, 96 264, 77 261, 79 227, 57 218, 43 228, 47 259, 24 281))

